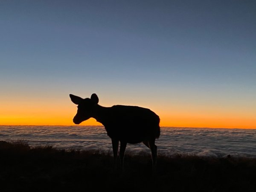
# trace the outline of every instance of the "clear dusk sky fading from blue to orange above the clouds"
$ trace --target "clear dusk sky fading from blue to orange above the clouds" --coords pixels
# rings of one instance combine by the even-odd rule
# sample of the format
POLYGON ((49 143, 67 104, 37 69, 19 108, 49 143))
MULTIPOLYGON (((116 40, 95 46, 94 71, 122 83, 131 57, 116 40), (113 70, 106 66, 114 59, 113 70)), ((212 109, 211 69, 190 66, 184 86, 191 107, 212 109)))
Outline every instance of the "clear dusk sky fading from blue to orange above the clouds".
POLYGON ((0 125, 73 125, 69 94, 96 93, 161 126, 256 128, 255 82, 255 0, 0 0, 0 125))

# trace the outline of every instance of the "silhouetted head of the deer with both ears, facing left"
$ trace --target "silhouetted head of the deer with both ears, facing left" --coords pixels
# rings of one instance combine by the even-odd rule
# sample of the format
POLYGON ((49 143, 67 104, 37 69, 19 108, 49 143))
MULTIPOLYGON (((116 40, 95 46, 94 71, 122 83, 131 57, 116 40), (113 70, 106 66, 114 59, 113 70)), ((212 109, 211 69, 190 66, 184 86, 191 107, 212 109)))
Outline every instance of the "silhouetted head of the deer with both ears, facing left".
POLYGON ((77 106, 77 113, 73 118, 75 124, 80 124, 81 122, 90 119, 95 113, 95 107, 99 102, 98 96, 93 93, 91 98, 82 99, 79 96, 70 94, 70 99, 77 106))

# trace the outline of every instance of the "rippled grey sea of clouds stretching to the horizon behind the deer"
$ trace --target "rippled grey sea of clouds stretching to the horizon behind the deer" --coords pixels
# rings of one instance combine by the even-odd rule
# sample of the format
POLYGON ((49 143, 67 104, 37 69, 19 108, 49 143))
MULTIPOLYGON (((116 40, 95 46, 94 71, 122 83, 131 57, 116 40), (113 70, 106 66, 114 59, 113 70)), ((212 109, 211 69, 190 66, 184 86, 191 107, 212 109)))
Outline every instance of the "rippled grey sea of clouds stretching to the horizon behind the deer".
MULTIPOLYGON (((120 126, 120 128, 122 128, 120 126)), ((31 146, 101 150, 112 153, 111 140, 102 126, 7 126, 0 125, 0 140, 28 142, 31 146)), ((256 129, 161 128, 156 140, 159 154, 256 157, 256 129)), ((150 150, 142 143, 128 144, 126 153, 150 150)))

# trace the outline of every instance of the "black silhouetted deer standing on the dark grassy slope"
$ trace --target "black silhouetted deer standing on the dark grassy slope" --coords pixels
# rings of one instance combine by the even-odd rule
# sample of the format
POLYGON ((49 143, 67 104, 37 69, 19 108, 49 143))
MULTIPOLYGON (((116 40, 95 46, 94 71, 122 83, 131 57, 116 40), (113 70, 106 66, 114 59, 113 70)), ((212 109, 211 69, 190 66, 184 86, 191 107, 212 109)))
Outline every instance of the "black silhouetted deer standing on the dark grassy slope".
POLYGON ((119 157, 122 169, 127 143, 143 142, 151 150, 152 168, 154 169, 157 163, 155 140, 160 137, 160 118, 156 113, 138 106, 113 105, 112 107, 103 107, 98 104, 99 98, 96 93, 85 99, 70 94, 70 99, 78 105, 77 113, 73 118, 76 125, 94 118, 105 127, 112 142, 114 166, 117 163, 119 142, 119 157))

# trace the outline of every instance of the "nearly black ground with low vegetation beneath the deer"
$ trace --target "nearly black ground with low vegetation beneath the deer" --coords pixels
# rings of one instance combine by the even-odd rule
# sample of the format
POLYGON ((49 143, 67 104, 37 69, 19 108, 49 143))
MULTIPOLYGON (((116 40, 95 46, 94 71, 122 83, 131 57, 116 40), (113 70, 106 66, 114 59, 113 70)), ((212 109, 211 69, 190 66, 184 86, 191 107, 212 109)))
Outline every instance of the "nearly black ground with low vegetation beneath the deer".
POLYGON ((0 141, 0 192, 255 192, 256 159, 126 154, 125 169, 99 151, 0 141))

